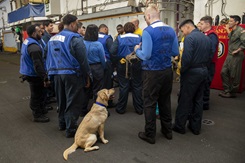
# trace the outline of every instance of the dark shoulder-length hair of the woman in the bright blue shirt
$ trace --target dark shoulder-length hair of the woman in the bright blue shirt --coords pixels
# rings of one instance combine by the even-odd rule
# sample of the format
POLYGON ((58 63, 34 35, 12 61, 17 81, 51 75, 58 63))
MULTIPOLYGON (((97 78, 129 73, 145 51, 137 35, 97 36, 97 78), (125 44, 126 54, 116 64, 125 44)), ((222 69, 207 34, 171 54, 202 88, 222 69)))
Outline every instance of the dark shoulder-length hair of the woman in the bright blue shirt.
POLYGON ((90 24, 87 26, 84 40, 86 41, 97 41, 99 35, 99 28, 95 24, 90 24))

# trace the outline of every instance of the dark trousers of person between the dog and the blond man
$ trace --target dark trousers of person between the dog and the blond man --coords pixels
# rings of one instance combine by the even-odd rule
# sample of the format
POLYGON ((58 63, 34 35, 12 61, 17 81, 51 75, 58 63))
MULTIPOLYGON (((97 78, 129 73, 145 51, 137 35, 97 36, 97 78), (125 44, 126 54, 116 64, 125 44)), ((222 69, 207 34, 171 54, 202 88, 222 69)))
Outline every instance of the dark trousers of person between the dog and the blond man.
POLYGON ((118 112, 125 112, 128 102, 129 88, 131 87, 133 96, 133 105, 136 112, 143 111, 142 99, 142 74, 141 63, 137 62, 133 65, 129 64, 129 78, 125 78, 126 64, 117 65, 117 75, 119 82, 119 99, 116 110, 118 112))

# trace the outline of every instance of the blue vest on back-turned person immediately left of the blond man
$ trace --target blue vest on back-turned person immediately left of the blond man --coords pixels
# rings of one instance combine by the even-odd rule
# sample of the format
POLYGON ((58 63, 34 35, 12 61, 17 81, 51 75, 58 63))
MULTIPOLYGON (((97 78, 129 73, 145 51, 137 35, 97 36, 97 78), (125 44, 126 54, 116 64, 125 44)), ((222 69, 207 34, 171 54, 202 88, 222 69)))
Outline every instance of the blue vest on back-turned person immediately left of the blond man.
POLYGON ((117 39, 119 59, 125 58, 128 54, 132 53, 135 45, 138 45, 141 42, 141 36, 133 33, 119 35, 117 39))

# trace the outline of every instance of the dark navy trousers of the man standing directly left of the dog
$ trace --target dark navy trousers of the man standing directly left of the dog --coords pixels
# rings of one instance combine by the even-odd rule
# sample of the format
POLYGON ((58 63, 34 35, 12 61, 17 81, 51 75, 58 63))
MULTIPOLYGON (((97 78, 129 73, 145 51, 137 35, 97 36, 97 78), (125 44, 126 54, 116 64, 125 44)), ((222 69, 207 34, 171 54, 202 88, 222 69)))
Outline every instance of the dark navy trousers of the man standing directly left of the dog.
POLYGON ((84 97, 83 78, 75 74, 55 75, 54 81, 59 106, 59 126, 66 127, 67 133, 76 132, 84 97))

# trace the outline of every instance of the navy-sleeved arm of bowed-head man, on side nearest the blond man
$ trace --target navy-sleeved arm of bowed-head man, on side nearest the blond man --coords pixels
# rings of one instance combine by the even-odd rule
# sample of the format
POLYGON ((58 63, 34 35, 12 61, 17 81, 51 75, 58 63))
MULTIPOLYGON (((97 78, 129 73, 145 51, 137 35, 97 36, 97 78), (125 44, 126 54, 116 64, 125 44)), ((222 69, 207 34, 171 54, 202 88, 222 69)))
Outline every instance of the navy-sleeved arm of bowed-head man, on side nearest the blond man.
POLYGON ((188 70, 191 66, 192 55, 194 52, 193 46, 193 39, 187 36, 184 41, 184 51, 181 58, 181 74, 188 70))

